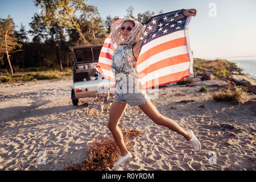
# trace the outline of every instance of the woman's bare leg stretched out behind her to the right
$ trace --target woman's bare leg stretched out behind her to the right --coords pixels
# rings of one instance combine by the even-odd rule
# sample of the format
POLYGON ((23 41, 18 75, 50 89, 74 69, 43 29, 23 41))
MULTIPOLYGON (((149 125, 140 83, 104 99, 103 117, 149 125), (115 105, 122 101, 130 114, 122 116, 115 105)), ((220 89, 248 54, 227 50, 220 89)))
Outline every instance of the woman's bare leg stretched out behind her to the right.
POLYGON ((187 140, 191 139, 191 135, 180 127, 174 120, 165 117, 160 114, 159 111, 155 108, 151 101, 148 101, 144 104, 139 105, 139 108, 152 120, 156 125, 168 127, 172 131, 183 135, 187 140))

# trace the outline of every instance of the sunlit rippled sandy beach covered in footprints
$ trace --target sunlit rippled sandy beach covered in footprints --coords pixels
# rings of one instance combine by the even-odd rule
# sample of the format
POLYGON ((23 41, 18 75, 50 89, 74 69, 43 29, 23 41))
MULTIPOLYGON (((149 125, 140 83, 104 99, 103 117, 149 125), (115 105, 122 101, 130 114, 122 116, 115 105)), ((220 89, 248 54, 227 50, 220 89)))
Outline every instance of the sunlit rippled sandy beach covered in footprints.
MULTIPOLYGON (((156 125, 138 106, 129 107, 119 126, 141 130, 143 135, 131 138, 133 158, 117 170, 255 171, 255 95, 243 92, 238 103, 216 102, 212 94, 229 82, 192 78, 191 86, 163 86, 159 98, 151 102, 184 129, 192 129, 201 151, 156 125), (201 86, 209 91, 199 92, 201 86)), ((63 170, 86 158, 92 138, 111 134, 108 113, 88 115, 86 99, 73 106, 72 84, 72 78, 0 84, 0 170, 63 170), (38 163, 40 151, 46 154, 45 164, 38 163)), ((251 84, 256 85, 254 79, 251 84)))

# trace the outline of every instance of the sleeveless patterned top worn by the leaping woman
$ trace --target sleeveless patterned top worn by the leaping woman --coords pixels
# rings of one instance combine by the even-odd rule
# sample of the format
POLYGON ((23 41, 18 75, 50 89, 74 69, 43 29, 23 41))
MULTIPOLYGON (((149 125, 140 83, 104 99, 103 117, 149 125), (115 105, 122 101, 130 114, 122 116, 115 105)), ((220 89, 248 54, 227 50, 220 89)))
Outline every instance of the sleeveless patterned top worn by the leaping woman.
POLYGON ((133 55, 133 45, 121 44, 115 49, 112 56, 112 69, 116 76, 118 73, 138 78, 138 71, 135 67, 136 59, 133 55))

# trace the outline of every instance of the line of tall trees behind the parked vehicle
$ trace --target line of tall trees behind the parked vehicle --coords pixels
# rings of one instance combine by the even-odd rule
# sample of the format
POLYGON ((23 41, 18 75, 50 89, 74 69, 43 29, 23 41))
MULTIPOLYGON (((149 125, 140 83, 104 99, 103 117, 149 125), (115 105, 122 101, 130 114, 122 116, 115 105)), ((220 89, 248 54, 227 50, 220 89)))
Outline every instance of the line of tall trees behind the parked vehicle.
MULTIPOLYGON (((9 15, 0 18, 0 72, 8 74, 27 71, 28 68, 60 69, 73 66, 71 46, 102 44, 110 33, 110 26, 118 16, 102 19, 96 6, 84 0, 34 0, 36 7, 44 3, 44 14, 35 13, 30 30, 22 23, 18 30, 9 15), (32 41, 28 40, 31 36, 32 41)), ((155 13, 146 11, 134 15, 134 8, 127 8, 125 18, 147 22, 155 13)), ((163 11, 160 10, 159 14, 163 11)), ((30 69, 31 70, 31 69, 30 69)))

